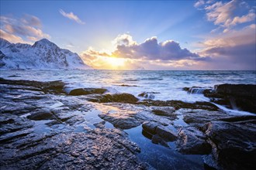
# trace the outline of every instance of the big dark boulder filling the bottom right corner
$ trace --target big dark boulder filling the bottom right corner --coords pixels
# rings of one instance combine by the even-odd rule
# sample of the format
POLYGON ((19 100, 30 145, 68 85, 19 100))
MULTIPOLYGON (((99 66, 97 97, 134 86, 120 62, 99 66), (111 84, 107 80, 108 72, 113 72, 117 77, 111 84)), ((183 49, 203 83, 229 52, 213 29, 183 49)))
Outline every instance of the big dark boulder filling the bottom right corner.
POLYGON ((256 122, 212 121, 204 126, 213 148, 213 158, 224 169, 255 169, 256 122))

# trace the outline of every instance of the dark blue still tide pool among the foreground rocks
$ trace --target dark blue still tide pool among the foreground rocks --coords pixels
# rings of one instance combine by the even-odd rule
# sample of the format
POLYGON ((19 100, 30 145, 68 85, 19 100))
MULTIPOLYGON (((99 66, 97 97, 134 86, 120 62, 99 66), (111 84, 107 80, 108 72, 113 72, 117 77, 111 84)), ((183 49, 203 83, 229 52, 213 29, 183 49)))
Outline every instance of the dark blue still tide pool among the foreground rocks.
POLYGON ((125 130, 131 141, 140 146, 138 158, 156 169, 204 169, 202 155, 182 155, 175 150, 175 142, 168 147, 156 145, 142 134, 142 126, 125 130))

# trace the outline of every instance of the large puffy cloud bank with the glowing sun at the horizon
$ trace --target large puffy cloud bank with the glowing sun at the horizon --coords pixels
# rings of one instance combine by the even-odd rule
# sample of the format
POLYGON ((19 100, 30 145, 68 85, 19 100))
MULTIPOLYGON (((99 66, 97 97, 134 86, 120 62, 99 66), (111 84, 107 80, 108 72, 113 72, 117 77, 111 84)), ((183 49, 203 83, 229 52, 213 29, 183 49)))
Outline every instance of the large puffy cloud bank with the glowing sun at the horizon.
POLYGON ((178 42, 168 40, 158 43, 157 37, 137 43, 133 41, 132 36, 123 34, 117 36, 112 44, 116 45, 116 50, 112 53, 89 48, 81 53, 81 57, 85 63, 97 69, 125 70, 138 68, 174 70, 175 68, 181 69, 182 66, 192 69, 191 67, 195 64, 198 66, 200 62, 209 59, 192 53, 189 49, 182 49, 178 42))

